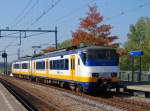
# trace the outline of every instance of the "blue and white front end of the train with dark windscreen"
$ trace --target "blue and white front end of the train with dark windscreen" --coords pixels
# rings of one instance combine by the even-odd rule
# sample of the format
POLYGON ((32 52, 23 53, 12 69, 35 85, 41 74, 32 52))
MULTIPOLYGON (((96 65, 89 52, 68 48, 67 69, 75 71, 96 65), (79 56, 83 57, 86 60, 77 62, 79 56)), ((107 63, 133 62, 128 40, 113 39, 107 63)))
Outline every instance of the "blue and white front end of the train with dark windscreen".
POLYGON ((88 89, 117 88, 119 57, 115 49, 89 48, 80 54, 84 73, 89 76, 88 89))

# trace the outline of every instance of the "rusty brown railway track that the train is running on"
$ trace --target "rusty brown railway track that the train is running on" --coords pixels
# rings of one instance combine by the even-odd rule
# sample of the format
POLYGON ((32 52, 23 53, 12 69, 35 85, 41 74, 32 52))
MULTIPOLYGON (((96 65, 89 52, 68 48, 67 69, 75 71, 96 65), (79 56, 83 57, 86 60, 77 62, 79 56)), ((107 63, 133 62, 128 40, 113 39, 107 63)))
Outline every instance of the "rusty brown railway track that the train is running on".
MULTIPOLYGON (((32 82, 32 83, 35 83, 35 82, 32 82)), ((77 92, 73 92, 70 90, 66 90, 58 86, 56 87, 53 85, 45 85, 43 83, 38 83, 38 84, 44 87, 54 88, 63 92, 68 92, 73 95, 81 96, 81 97, 88 98, 91 100, 96 100, 100 103, 114 106, 116 108, 119 108, 125 111, 149 111, 150 110, 150 103, 148 102, 127 99, 126 96, 130 96, 130 94, 125 94, 125 96, 123 96, 124 93, 121 93, 121 96, 117 96, 117 95, 114 95, 113 93, 108 93, 108 95, 105 97, 101 95, 100 97, 99 96, 95 97, 95 96, 87 95, 84 93, 77 93, 77 92), (110 96, 109 94, 112 96, 110 96)))

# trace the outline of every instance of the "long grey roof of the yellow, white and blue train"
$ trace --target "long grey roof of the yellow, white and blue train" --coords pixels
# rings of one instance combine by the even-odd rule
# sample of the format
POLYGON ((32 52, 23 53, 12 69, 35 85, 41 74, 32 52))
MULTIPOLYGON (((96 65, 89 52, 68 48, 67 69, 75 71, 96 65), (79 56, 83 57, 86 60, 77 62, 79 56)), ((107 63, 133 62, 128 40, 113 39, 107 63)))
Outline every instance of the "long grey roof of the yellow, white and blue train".
POLYGON ((19 62, 19 61, 28 61, 28 60, 35 60, 35 59, 42 59, 42 58, 48 58, 48 57, 54 57, 54 56, 60 56, 60 55, 69 55, 69 54, 75 54, 79 51, 86 51, 90 49, 114 49, 110 47, 102 47, 102 46, 87 46, 87 47, 69 47, 65 49, 60 49, 60 50, 54 50, 49 53, 46 53, 41 56, 25 56, 21 57, 20 59, 14 61, 14 62, 19 62))

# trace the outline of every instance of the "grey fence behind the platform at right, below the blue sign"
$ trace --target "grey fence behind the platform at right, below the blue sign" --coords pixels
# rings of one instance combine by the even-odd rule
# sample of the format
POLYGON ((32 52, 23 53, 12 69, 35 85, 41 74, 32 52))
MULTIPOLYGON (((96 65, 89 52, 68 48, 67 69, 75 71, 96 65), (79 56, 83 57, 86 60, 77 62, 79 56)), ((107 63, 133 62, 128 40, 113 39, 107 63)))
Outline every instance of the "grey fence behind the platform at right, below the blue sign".
MULTIPOLYGON (((119 79, 121 81, 134 81, 138 82, 139 78, 139 71, 135 71, 133 74, 133 80, 132 80, 132 71, 120 71, 119 72, 119 79)), ((150 74, 148 71, 142 71, 141 73, 141 81, 142 82, 150 82, 150 74)))

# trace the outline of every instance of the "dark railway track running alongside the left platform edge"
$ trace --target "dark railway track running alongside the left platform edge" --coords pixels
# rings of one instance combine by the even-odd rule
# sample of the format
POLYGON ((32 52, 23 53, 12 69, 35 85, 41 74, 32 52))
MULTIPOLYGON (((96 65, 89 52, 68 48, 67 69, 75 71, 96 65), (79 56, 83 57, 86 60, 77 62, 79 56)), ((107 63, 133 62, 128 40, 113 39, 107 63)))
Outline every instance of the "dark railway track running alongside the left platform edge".
POLYGON ((0 82, 8 89, 8 91, 16 97, 16 99, 23 104, 23 106, 28 111, 62 111, 58 107, 54 106, 53 104, 47 104, 44 101, 40 100, 37 96, 30 94, 23 90, 21 87, 23 86, 16 86, 13 82, 11 82, 12 79, 9 77, 0 77, 0 82))

